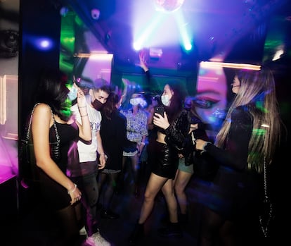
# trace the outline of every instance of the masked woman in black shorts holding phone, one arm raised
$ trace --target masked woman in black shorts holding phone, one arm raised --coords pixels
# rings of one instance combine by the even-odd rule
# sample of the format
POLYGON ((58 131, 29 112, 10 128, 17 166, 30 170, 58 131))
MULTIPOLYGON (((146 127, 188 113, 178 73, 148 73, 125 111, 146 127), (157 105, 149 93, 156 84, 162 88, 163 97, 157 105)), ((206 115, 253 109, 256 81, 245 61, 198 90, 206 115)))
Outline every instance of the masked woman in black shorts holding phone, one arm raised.
MULTIPOLYGON (((141 56, 140 61, 145 66, 141 56)), ((155 107, 151 113, 153 123, 157 127, 157 138, 148 145, 150 149, 148 161, 152 171, 145 188, 141 214, 129 238, 131 245, 136 244, 143 237, 143 225, 153 210, 155 197, 160 190, 167 202, 169 226, 161 228, 159 233, 164 237, 181 238, 182 236, 178 223, 173 180, 179 163, 178 152, 183 147, 183 140, 190 129, 187 112, 183 111, 183 98, 179 82, 169 81, 164 85, 161 95, 162 105, 155 107), (160 113, 154 113, 157 109, 161 109, 160 113)))

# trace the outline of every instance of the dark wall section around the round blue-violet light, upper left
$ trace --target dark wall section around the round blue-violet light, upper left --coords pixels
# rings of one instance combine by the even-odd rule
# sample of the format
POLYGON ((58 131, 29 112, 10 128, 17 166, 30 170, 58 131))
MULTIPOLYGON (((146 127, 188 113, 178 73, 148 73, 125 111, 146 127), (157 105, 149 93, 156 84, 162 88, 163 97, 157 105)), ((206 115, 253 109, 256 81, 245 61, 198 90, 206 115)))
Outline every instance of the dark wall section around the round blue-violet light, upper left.
POLYGON ((37 78, 43 68, 58 68, 60 56, 60 13, 51 1, 21 1, 22 47, 20 49, 20 134, 29 113, 37 78), (37 46, 38 39, 51 39, 48 51, 37 46))

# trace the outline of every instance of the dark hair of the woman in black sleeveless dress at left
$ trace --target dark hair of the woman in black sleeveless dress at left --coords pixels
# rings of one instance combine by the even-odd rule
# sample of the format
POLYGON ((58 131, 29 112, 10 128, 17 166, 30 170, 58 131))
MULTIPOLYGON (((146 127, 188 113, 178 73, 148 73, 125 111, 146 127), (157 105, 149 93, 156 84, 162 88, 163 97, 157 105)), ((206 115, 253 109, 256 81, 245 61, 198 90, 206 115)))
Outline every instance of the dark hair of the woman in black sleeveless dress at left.
POLYGON ((68 121, 71 116, 70 100, 67 93, 67 76, 60 70, 44 70, 40 75, 39 87, 35 102, 51 106, 53 113, 63 121, 68 121))

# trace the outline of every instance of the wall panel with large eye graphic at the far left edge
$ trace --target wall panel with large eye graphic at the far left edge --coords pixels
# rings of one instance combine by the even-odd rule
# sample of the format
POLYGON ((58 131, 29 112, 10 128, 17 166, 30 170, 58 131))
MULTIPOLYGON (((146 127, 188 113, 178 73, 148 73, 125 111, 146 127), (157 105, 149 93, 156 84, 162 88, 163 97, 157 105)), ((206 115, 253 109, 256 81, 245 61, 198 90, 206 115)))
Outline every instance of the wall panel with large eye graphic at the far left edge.
POLYGON ((0 1, 0 184, 18 175, 19 5, 0 1))

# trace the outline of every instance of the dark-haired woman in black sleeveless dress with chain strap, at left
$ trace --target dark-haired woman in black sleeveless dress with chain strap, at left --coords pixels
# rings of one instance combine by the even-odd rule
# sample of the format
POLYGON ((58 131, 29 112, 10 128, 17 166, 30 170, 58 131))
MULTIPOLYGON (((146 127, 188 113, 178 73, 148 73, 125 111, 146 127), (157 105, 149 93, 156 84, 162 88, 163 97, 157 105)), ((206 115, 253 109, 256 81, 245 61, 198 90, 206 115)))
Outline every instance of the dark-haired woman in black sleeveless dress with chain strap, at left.
MULTIPOLYGON (((44 214, 56 215, 56 223, 62 230, 61 239, 54 245, 80 245, 77 212, 81 209, 81 192, 66 176, 67 154, 79 137, 91 141, 91 128, 86 111, 86 99, 77 88, 71 99, 77 98, 82 125, 72 118, 66 76, 59 70, 46 70, 41 75, 37 100, 32 115, 32 140, 39 173, 38 198, 44 201, 44 214), (74 97, 74 98, 73 98, 74 97), (53 160, 50 142, 56 142, 56 128, 60 137, 60 159, 53 160)), ((76 85, 74 85, 75 87, 76 85)), ((54 218, 54 217, 53 217, 54 218)), ((80 218, 79 218, 80 219, 80 218)))

